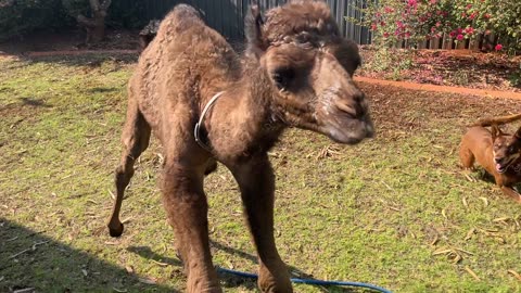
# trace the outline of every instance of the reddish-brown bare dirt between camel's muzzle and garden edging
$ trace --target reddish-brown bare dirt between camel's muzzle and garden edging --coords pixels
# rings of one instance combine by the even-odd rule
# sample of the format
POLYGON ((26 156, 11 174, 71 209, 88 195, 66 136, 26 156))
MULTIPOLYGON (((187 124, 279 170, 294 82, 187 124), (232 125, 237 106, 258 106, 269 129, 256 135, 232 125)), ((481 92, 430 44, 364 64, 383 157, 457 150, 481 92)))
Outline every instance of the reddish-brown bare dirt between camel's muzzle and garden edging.
POLYGON ((521 100, 514 99, 415 91, 364 81, 358 81, 358 85, 369 99, 378 132, 390 138, 430 131, 430 123, 437 119, 455 122, 455 129, 462 132, 480 118, 519 113, 521 110, 521 100))

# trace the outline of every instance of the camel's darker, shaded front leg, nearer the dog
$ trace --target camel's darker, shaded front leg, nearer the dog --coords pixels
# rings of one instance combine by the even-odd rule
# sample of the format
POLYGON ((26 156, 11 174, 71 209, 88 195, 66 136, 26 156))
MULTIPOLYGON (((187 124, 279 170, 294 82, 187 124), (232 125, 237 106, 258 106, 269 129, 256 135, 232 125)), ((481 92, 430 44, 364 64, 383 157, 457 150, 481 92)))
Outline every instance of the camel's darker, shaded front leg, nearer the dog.
POLYGON ((275 176, 268 157, 254 157, 231 170, 241 189, 246 220, 257 249, 258 286, 263 292, 293 292, 288 268, 275 245, 275 176))

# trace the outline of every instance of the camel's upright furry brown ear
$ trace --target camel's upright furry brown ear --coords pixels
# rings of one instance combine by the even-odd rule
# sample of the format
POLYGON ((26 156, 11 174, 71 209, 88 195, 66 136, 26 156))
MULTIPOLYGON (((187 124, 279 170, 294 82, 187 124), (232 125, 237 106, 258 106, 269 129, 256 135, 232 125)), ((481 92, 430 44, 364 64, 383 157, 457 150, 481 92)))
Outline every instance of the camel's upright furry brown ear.
POLYGON ((266 44, 263 38, 263 16, 260 9, 256 1, 252 1, 250 12, 244 18, 244 34, 246 35, 247 48, 246 54, 259 58, 266 50, 266 44))

